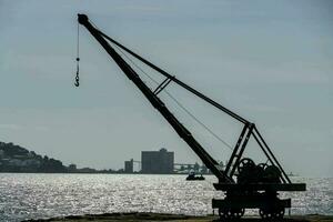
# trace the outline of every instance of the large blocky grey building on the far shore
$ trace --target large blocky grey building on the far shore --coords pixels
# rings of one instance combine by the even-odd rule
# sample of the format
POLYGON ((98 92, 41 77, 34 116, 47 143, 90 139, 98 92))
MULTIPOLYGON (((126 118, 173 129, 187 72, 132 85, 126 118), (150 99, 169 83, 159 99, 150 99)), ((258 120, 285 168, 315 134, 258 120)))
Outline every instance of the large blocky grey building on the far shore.
POLYGON ((174 152, 168 152, 165 148, 141 152, 142 173, 173 173, 173 164, 174 152))

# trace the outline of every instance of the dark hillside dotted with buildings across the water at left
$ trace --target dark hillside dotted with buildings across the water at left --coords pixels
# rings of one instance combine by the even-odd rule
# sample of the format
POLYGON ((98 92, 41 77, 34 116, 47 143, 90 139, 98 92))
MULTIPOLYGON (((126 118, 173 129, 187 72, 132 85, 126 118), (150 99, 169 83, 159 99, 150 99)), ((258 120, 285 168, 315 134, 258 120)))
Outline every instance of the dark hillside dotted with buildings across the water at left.
POLYGON ((61 161, 42 157, 13 143, 0 142, 0 172, 62 173, 68 169, 61 161))

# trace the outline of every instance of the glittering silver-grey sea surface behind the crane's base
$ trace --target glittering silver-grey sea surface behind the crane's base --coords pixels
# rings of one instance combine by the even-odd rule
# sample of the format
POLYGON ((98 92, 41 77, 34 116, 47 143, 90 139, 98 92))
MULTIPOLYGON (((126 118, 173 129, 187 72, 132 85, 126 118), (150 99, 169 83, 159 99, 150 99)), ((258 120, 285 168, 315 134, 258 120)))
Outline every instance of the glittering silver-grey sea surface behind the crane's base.
MULTIPOLYGON (((0 221, 105 212, 212 213, 214 176, 0 173, 0 221)), ((333 214, 333 179, 292 178, 306 192, 292 196, 294 214, 333 214)), ((251 212, 249 212, 251 213, 251 212)))

